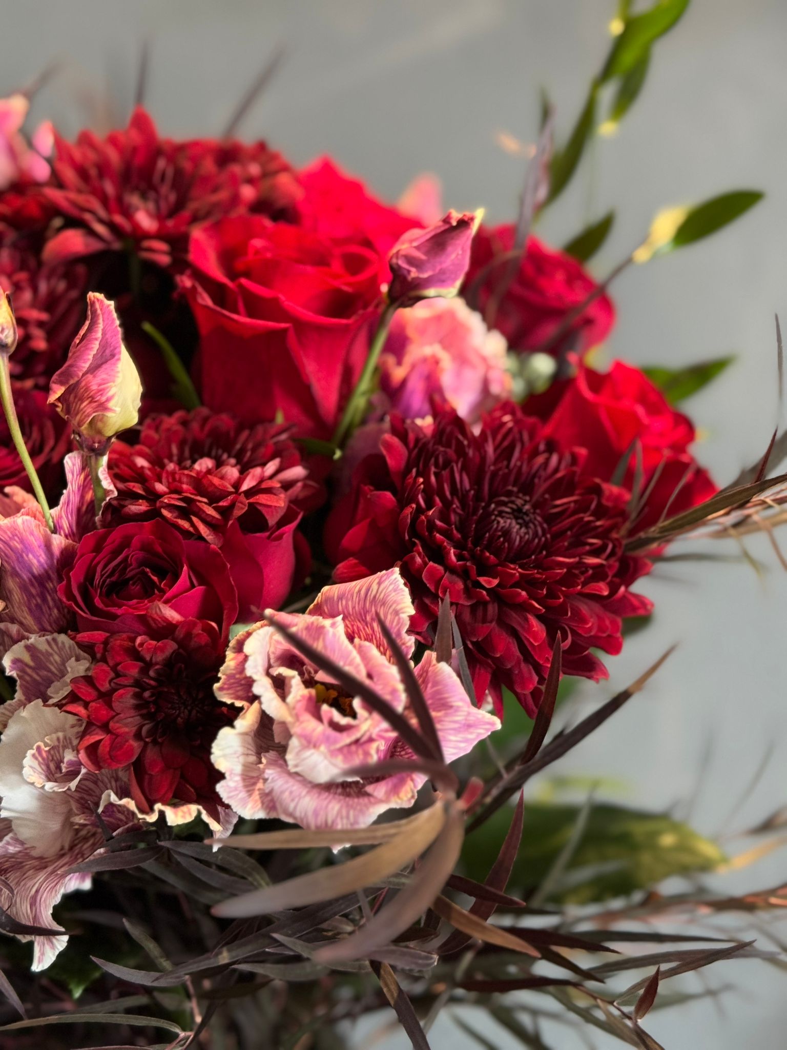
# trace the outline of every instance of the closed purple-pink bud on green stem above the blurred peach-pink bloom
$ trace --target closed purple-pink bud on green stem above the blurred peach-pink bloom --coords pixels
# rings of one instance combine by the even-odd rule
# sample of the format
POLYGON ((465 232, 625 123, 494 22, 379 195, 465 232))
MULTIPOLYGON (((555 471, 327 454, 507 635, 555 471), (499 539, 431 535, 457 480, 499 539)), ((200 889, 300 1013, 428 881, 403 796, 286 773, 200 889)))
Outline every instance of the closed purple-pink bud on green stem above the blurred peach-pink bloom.
POLYGON ((470 266, 470 245, 483 212, 449 211, 426 230, 410 230, 388 258, 388 299, 411 306, 419 299, 455 295, 470 266))

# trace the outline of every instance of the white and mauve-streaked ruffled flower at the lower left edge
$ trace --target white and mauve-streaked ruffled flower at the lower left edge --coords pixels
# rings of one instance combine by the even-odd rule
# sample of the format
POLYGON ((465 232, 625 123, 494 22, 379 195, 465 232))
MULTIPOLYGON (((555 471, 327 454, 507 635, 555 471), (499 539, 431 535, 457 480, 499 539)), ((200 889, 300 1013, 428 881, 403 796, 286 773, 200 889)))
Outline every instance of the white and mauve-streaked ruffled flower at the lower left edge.
POLYGON ((135 817, 118 801, 127 775, 88 772, 77 751, 83 722, 54 706, 89 657, 64 634, 41 634, 15 645, 4 664, 18 681, 0 708, 0 905, 25 926, 52 930, 20 934, 35 941, 33 969, 41 970, 67 941, 52 908, 90 886, 89 874, 70 869, 105 841, 97 814, 114 834, 135 817))

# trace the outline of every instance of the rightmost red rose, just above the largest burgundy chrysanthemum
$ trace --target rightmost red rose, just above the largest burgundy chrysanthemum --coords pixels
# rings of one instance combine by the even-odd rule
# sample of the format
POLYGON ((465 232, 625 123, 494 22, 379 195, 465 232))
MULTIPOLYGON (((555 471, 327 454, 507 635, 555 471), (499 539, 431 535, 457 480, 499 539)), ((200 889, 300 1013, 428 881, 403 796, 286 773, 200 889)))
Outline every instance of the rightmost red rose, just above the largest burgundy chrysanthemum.
POLYGON ((605 373, 580 365, 573 378, 531 398, 527 411, 546 420, 545 437, 561 448, 578 445, 588 450, 586 475, 610 481, 628 456, 621 483, 629 489, 635 483, 639 445, 644 506, 636 531, 717 491, 707 470, 688 452, 697 437, 692 421, 668 404, 647 376, 622 361, 615 361, 605 373))

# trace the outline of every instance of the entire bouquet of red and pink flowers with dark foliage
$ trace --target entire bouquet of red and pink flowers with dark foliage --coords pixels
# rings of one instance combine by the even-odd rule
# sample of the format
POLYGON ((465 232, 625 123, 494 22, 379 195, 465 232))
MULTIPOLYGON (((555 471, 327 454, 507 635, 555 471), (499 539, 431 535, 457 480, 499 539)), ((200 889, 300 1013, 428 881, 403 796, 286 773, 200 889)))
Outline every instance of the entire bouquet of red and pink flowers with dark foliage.
POLYGON ((784 887, 530 791, 665 658, 573 718, 653 565, 787 500, 775 435, 725 487, 695 460, 676 404, 728 359, 597 350, 622 269, 761 194, 666 209, 602 280, 612 215, 532 233, 685 7, 621 5, 496 227, 428 176, 388 205, 142 106, 69 142, 0 104, 0 1046, 327 1050, 392 1008, 417 1048, 441 1010, 655 1048, 665 979, 763 954, 699 919, 784 887))

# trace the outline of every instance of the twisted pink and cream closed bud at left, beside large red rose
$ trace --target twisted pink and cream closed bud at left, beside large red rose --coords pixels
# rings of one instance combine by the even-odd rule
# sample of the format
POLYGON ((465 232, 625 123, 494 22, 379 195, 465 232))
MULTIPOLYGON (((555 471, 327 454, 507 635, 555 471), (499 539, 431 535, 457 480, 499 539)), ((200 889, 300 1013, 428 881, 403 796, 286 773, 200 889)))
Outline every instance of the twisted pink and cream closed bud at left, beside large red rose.
POLYGON ((103 455, 115 434, 136 423, 141 400, 142 383, 114 307, 88 292, 87 319, 52 376, 49 404, 68 420, 85 452, 103 455))

